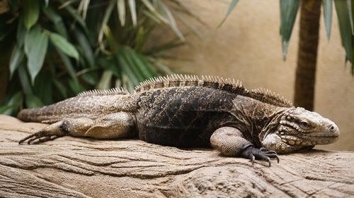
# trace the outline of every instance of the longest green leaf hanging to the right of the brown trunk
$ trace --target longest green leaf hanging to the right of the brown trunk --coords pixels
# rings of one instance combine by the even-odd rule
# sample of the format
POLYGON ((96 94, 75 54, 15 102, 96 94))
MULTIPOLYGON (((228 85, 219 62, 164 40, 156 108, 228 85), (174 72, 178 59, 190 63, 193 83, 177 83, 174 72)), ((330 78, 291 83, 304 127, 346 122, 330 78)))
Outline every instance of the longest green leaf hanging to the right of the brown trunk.
POLYGON ((348 6, 350 5, 347 4, 347 1, 338 0, 338 1, 334 1, 334 6, 336 6, 336 13, 338 16, 342 45, 344 49, 346 49, 346 60, 349 60, 350 62, 353 63, 352 48, 351 48, 352 32, 351 32, 350 19, 348 17, 350 16, 350 13, 348 12, 348 6))

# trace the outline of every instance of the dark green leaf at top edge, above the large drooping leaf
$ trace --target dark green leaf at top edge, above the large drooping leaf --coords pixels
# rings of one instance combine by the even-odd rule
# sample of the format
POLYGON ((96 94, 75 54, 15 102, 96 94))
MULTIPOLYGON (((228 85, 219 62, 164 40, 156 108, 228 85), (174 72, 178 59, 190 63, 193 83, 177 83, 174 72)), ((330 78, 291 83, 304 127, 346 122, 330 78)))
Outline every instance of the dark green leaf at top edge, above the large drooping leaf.
POLYGON ((35 25, 40 16, 39 0, 23 0, 23 23, 27 30, 35 25))

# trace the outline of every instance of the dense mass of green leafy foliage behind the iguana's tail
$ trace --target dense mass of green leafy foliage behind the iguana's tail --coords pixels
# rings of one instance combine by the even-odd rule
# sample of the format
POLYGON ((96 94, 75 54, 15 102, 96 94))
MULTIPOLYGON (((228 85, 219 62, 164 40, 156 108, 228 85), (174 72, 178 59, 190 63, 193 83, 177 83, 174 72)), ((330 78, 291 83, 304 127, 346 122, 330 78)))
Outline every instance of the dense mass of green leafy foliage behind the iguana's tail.
POLYGON ((174 17, 188 26, 198 20, 178 0, 8 0, 7 6, 0 12, 0 67, 9 70, 0 113, 7 114, 86 89, 132 90, 171 73, 164 52, 184 43, 174 17), (157 45, 152 32, 163 25, 177 38, 157 45))

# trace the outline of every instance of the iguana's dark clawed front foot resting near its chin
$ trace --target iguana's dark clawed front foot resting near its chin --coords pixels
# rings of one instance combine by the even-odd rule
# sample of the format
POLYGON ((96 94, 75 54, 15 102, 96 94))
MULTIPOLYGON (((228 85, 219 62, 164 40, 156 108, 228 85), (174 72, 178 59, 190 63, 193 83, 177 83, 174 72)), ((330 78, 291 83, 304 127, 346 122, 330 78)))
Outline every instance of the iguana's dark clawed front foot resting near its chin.
POLYGON ((276 159, 279 163, 278 154, 275 151, 271 151, 262 147, 261 149, 257 149, 253 146, 247 147, 242 151, 241 156, 244 158, 251 159, 252 165, 256 159, 261 161, 268 161, 268 165, 270 166, 270 159, 276 159))

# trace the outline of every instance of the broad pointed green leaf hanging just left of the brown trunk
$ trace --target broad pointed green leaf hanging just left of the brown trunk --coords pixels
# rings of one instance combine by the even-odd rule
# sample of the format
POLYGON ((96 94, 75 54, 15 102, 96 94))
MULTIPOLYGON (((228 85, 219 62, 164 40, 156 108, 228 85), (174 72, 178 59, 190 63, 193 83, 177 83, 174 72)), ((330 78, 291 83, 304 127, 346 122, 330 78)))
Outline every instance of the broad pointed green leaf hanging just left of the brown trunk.
POLYGON ((299 6, 299 0, 280 0, 280 35, 282 35, 282 57, 284 61, 299 6))

